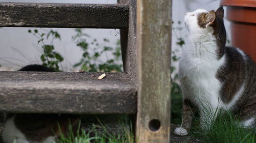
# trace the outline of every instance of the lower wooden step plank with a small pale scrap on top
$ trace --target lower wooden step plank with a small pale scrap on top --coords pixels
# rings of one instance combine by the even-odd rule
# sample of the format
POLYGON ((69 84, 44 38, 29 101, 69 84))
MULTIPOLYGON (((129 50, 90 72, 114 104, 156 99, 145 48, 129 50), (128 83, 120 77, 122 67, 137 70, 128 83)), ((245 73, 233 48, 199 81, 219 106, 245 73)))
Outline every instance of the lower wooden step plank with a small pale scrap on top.
POLYGON ((0 72, 0 112, 136 113, 137 90, 124 73, 0 72))

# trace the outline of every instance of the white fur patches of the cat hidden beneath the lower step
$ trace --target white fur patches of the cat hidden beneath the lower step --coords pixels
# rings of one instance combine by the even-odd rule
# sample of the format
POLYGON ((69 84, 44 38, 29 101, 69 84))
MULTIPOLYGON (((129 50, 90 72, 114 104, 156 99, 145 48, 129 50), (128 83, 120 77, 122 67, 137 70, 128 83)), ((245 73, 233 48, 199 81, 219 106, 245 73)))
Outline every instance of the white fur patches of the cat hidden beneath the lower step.
MULTIPOLYGON (((3 132, 3 140, 5 143, 39 143, 29 141, 25 135, 18 130, 14 124, 14 117, 7 120, 5 124, 5 130, 3 132)), ((55 142, 54 136, 47 137, 42 143, 53 143, 55 142)))

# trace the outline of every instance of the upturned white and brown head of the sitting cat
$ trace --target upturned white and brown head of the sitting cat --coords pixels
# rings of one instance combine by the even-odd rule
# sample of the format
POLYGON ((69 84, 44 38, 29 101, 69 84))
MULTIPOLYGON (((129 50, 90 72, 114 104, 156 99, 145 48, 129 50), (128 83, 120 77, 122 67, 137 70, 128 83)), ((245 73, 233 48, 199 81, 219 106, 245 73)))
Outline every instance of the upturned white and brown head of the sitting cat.
MULTIPOLYGON (((220 7, 216 11, 207 11, 198 9, 193 12, 186 13, 184 22, 190 37, 199 39, 199 37, 207 37, 216 40, 220 48, 224 48, 226 44, 226 30, 224 26, 224 10, 220 7)), ((221 49, 220 49, 221 50, 221 49)), ((220 51, 223 53, 223 50, 220 51)))

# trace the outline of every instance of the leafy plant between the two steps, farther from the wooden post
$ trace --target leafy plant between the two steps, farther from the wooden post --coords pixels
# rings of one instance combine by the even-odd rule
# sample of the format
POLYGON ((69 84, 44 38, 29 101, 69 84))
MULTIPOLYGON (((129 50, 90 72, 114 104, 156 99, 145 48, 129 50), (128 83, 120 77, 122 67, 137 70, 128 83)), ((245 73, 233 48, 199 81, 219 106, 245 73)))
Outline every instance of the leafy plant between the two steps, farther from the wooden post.
POLYGON ((50 30, 47 33, 39 33, 37 29, 34 31, 28 30, 29 33, 33 34, 36 38, 38 38, 37 43, 41 43, 41 48, 43 49, 43 53, 40 56, 42 61, 42 65, 47 66, 55 71, 59 70, 59 64, 64 60, 60 53, 54 50, 53 41, 54 39, 60 40, 60 35, 57 31, 50 30), (45 44, 45 40, 51 38, 50 44, 45 44))

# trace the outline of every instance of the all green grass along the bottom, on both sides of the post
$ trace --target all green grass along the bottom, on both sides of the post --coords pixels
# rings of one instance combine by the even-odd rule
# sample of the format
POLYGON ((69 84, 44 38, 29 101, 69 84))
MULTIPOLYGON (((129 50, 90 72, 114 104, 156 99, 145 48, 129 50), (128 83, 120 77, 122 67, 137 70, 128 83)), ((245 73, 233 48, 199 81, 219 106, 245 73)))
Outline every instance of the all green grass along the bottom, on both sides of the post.
MULTIPOLYGON (((239 126, 239 120, 234 118, 230 112, 226 111, 219 116, 207 131, 199 127, 198 120, 199 118, 196 117, 194 120, 196 124, 191 128, 189 135, 199 138, 203 142, 255 143, 256 141, 256 129, 239 126)), ((74 135, 70 127, 70 132, 66 136, 61 134, 56 143, 134 143, 134 134, 130 131, 129 126, 127 126, 127 122, 121 121, 119 125, 121 129, 118 132, 109 130, 110 127, 102 123, 92 126, 89 131, 79 128, 77 136, 74 135)))

